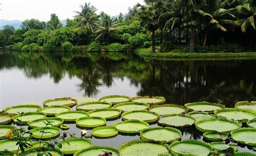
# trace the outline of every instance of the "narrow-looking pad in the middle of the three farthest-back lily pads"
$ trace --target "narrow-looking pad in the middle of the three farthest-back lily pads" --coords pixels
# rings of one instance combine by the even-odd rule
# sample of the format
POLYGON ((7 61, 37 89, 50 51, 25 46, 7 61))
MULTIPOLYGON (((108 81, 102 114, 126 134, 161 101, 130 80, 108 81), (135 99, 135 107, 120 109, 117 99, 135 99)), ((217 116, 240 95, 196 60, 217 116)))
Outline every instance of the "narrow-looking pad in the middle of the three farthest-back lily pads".
POLYGON ((130 97, 128 96, 105 96, 99 99, 99 101, 103 101, 106 103, 111 104, 120 104, 120 103, 126 103, 130 101, 130 97))

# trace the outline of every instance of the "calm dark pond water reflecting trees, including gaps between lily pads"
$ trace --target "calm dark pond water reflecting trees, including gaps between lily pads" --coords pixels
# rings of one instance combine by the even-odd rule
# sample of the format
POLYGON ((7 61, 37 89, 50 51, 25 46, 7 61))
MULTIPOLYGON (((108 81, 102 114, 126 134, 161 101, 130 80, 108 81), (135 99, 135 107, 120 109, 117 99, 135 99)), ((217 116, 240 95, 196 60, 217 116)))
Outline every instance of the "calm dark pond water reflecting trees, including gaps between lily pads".
MULTIPOLYGON (((256 60, 157 60, 133 54, 0 53, 0 108, 60 97, 163 96, 166 103, 193 101, 226 107, 256 100, 256 60)), ((75 109, 75 108, 72 108, 75 109)), ((113 125, 121 119, 107 121, 113 125)), ((156 124, 151 126, 157 126, 156 124)), ((80 129, 70 124, 70 132, 80 129)), ((203 140, 194 128, 182 139, 203 140)), ((89 131, 89 133, 91 133, 89 131)), ((93 145, 118 147, 139 135, 92 138, 93 145)), ((205 141, 205 140, 204 140, 205 141)), ((239 151, 250 151, 240 146, 239 151)))

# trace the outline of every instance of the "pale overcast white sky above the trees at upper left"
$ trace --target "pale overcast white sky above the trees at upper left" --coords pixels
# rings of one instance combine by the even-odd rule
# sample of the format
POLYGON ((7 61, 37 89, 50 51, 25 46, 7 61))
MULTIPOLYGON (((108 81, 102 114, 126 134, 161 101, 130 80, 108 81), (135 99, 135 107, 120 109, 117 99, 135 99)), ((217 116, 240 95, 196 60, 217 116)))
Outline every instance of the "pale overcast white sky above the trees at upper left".
POLYGON ((80 11, 79 5, 91 3, 111 16, 120 12, 127 13, 129 6, 143 3, 143 0, 0 0, 0 18, 6 20, 36 18, 49 21, 51 13, 56 13, 59 19, 72 18, 80 11))

